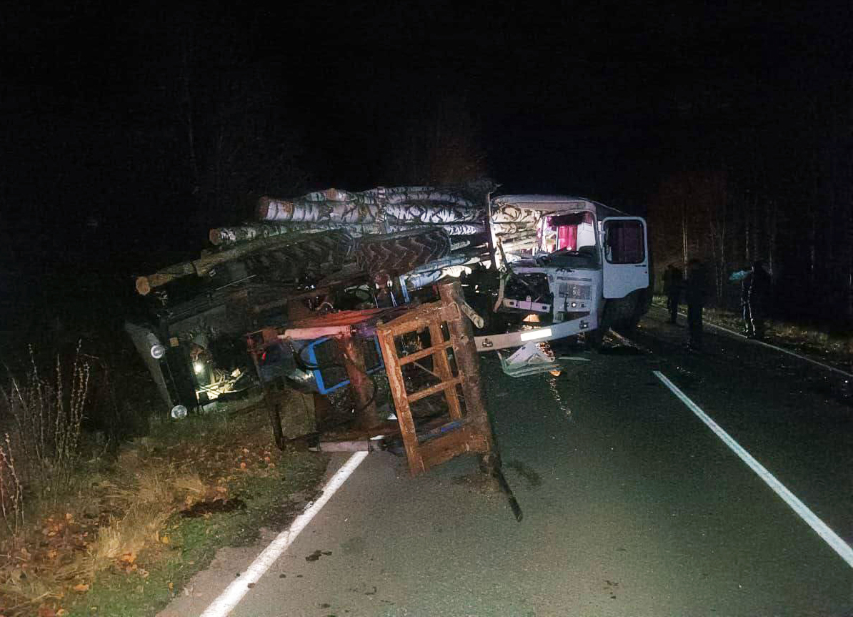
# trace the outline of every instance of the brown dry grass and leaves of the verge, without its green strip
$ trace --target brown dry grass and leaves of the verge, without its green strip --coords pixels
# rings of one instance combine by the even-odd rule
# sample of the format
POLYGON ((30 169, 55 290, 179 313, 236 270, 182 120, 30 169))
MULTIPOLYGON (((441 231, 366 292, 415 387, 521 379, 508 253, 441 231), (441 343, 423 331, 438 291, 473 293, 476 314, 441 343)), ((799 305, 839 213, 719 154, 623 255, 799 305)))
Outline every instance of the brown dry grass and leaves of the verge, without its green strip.
POLYGON ((61 499, 33 498, 26 525, 0 537, 0 615, 72 608, 102 593, 104 580, 145 579, 148 589, 149 575, 183 554, 173 550, 186 542, 180 510, 280 477, 265 422, 263 410, 153 422, 111 463, 78 459, 61 499))

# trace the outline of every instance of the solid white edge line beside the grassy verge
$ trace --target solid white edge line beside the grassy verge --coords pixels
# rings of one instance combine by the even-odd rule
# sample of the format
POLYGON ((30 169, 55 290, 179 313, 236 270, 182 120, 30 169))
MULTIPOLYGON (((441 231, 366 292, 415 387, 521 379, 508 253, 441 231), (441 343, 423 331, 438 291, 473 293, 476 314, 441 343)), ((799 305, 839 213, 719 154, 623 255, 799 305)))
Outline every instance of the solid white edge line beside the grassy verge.
POLYGON ((350 474, 362 463, 368 456, 368 452, 356 452, 349 457, 344 463, 344 466, 328 480, 328 484, 323 488, 322 495, 314 503, 305 509, 305 511, 297 516, 290 527, 287 527, 283 532, 279 533, 276 538, 270 542, 260 555, 255 557, 245 573, 242 573, 239 579, 235 579, 228 587, 225 588, 219 597, 211 602, 211 605, 205 609, 205 612, 200 614, 200 617, 225 617, 235 606, 243 599, 243 596, 249 591, 249 585, 257 583, 264 573, 270 569, 270 566, 276 562, 287 547, 293 543, 293 540, 299 535, 305 527, 314 518, 326 502, 332 498, 334 493, 344 484, 350 474))

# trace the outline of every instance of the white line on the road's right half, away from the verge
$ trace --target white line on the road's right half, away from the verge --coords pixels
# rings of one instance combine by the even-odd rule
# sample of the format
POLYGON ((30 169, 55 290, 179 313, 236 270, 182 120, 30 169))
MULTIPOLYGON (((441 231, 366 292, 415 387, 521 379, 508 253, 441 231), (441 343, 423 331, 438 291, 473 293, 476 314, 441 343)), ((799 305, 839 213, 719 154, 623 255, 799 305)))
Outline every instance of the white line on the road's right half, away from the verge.
POLYGON ((850 566, 850 568, 853 568, 853 549, 851 549, 843 539, 839 538, 837 533, 827 527, 827 524, 821 521, 821 519, 819 519, 805 503, 801 502, 796 495, 789 491, 785 485, 783 485, 779 480, 776 480, 773 474, 771 474, 767 469, 764 469, 763 465, 758 463, 749 452, 744 450, 737 441, 732 439, 731 435, 722 430, 717 422, 711 420, 711 417, 708 416, 705 411, 701 410, 699 405, 696 405, 692 400, 688 399, 688 396, 679 390, 666 375, 661 373, 659 370, 655 370, 653 372, 654 375, 664 383, 664 386, 670 388, 672 393, 681 399, 682 403, 687 405, 688 409, 693 411, 693 413, 699 417, 699 420, 705 422, 707 427, 711 428, 711 430, 717 434, 717 437, 722 439, 722 443, 728 445, 731 451, 740 457, 741 461, 749 465, 750 469, 758 474, 758 477, 764 480, 767 486, 773 489, 773 492, 782 498, 782 501, 787 503, 791 509, 809 525, 809 527, 814 529, 815 532, 821 536, 827 544, 829 544, 830 548, 832 548, 836 553, 838 553, 838 556, 847 562, 847 565, 850 566))

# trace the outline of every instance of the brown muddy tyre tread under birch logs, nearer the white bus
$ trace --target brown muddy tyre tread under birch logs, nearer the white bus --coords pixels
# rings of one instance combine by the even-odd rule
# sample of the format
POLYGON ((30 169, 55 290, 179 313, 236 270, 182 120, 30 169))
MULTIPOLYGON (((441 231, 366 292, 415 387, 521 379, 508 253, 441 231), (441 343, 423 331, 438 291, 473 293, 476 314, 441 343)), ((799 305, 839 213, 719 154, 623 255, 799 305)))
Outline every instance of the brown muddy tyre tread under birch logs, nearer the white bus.
POLYGON ((358 267, 370 276, 398 276, 450 254, 450 236, 442 229, 364 236, 356 249, 358 267))

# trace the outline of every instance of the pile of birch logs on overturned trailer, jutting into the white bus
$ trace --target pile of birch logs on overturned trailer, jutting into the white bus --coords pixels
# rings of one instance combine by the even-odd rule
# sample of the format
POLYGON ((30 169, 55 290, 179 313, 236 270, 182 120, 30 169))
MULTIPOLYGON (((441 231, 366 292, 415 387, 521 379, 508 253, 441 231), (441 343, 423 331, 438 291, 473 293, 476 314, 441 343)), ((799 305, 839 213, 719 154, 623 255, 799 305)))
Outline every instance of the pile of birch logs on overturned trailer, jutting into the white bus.
POLYGON ((361 192, 327 189, 292 199, 264 196, 258 200, 256 222, 210 230, 212 252, 140 276, 136 290, 145 295, 183 276, 206 276, 229 260, 280 250, 330 230, 339 230, 358 242, 363 236, 440 227, 455 247, 469 247, 467 253, 470 247, 480 247, 485 255, 493 239, 516 245, 535 238, 539 212, 517 207, 490 212, 488 194, 494 188, 489 183, 467 190, 380 187, 361 192))

